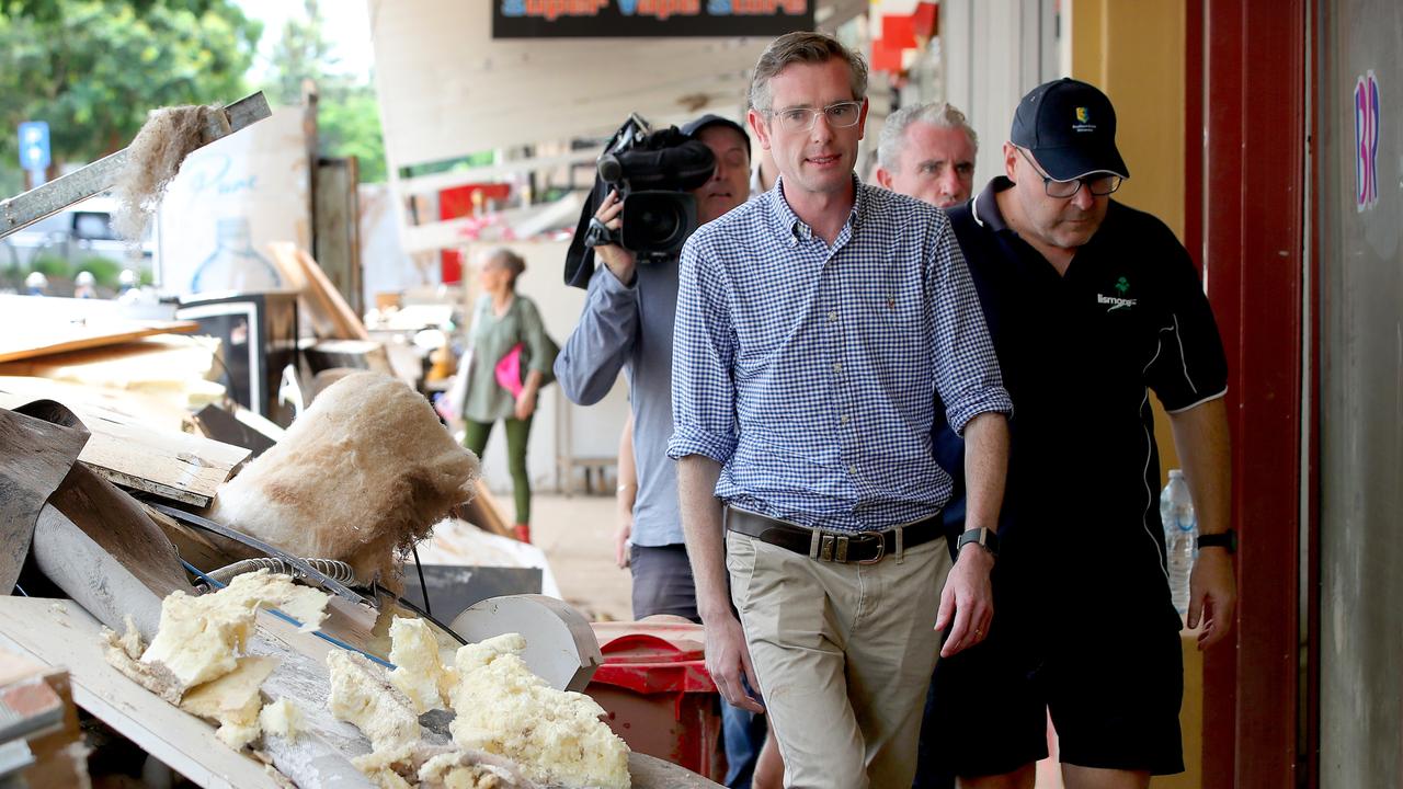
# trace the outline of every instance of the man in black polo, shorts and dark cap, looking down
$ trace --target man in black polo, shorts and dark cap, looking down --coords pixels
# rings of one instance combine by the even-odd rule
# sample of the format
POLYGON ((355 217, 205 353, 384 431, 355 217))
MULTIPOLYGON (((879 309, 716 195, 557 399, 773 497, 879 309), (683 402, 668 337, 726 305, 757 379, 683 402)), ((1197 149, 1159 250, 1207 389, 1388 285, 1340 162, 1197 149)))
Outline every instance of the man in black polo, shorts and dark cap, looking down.
MULTIPOLYGON (((1204 535, 1188 611, 1204 649, 1236 602, 1226 361, 1184 247, 1110 198, 1129 175, 1110 100, 1042 84, 1010 139, 1005 175, 950 212, 1014 403, 995 618, 984 644, 937 665, 925 755, 961 786, 1031 788, 1051 710, 1069 789, 1143 788, 1183 771, 1149 392, 1204 535)), ((937 438, 943 458, 954 441, 937 438)))

